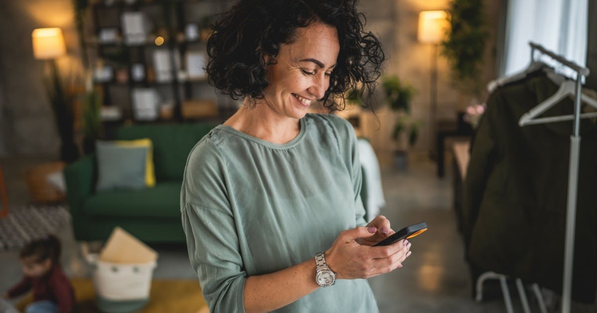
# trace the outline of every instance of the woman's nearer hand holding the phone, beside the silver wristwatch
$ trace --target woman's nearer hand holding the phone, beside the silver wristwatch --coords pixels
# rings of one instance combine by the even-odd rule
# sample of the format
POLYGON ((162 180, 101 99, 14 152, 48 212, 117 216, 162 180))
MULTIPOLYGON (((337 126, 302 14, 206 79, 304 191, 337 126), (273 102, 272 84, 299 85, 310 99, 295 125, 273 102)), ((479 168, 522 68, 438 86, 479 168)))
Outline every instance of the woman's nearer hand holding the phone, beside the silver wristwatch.
POLYGON ((408 240, 379 247, 356 242, 373 237, 377 231, 375 227, 356 227, 340 233, 325 252, 325 260, 337 279, 369 278, 402 267, 402 262, 411 255, 408 240))

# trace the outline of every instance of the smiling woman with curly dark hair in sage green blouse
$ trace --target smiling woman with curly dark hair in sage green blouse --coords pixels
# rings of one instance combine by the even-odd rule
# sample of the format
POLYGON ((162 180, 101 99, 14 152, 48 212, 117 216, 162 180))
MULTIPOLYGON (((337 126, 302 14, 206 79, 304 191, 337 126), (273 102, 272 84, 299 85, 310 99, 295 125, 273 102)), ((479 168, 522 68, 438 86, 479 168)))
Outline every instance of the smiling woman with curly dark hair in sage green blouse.
POLYGON ((365 226, 352 126, 338 95, 379 76, 356 1, 240 1, 207 43, 210 82, 241 109, 193 148, 181 190, 190 261, 211 312, 376 312, 367 280, 410 243, 365 226), (325 251, 325 253, 319 253, 325 251))

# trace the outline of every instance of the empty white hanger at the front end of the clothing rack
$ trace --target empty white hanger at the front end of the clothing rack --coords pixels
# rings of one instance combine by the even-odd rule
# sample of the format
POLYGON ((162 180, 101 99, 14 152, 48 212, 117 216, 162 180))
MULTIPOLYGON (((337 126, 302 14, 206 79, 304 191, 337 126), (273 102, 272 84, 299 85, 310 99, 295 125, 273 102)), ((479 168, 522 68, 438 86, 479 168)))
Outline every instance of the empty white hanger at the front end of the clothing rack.
MULTIPOLYGON (((574 119, 573 114, 562 115, 562 116, 539 117, 539 118, 536 118, 536 117, 543 114, 544 111, 547 111, 547 109, 549 109, 550 107, 553 107, 556 103, 558 103, 565 97, 574 95, 575 90, 576 90, 576 82, 574 82, 573 80, 565 80, 564 82, 562 82, 562 85, 560 85, 560 88, 558 89, 558 91, 556 91, 555 94, 553 94, 551 97, 547 98, 546 100, 544 100, 543 102, 538 104, 533 109, 529 110, 527 113, 522 114, 521 119, 518 121, 518 125, 525 126, 525 125, 539 124, 539 123, 560 122, 562 120, 573 120, 574 119)), ((586 94, 583 94, 582 92, 580 94, 580 100, 583 101, 584 103, 589 104, 592 107, 595 107, 595 109, 597 109, 597 100, 589 97, 586 94)), ((580 114, 581 119, 586 118, 586 117, 597 117, 597 112, 580 114)))

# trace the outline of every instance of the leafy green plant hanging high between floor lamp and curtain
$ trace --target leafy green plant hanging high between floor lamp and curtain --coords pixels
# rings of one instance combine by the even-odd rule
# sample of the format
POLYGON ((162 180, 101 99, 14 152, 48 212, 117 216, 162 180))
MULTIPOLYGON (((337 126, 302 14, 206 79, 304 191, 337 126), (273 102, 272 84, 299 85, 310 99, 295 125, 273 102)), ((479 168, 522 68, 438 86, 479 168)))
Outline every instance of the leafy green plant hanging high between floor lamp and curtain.
POLYGON ((479 97, 481 66, 488 32, 482 0, 452 0, 448 9, 450 31, 442 54, 450 63, 457 87, 479 97))

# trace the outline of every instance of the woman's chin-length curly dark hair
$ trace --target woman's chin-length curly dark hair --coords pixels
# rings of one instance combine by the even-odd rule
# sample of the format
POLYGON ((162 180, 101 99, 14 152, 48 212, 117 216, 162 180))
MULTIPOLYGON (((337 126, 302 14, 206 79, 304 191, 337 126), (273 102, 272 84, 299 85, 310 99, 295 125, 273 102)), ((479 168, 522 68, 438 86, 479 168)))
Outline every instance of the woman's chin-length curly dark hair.
POLYGON ((280 46, 291 44, 299 27, 323 23, 336 27, 340 42, 330 87, 320 99, 324 107, 343 110, 341 95, 349 90, 368 97, 377 85, 385 56, 376 36, 365 32, 367 20, 356 5, 357 0, 239 1, 212 26, 205 68, 209 82, 235 100, 262 99, 269 85, 264 55, 273 57, 275 63, 280 46))

